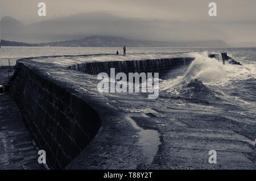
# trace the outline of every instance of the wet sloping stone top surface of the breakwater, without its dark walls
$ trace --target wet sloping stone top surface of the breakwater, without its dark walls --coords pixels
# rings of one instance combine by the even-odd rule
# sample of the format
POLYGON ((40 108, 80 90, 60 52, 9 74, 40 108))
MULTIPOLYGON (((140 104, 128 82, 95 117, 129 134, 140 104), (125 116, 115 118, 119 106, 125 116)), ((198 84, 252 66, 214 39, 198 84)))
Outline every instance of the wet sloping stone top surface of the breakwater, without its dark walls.
MULTIPOLYGON (((170 54, 158 56, 166 58, 170 54)), ((147 94, 99 93, 96 75, 69 69, 74 64, 96 60, 118 58, 56 56, 19 61, 83 100, 100 116, 101 128, 96 137, 65 169, 255 169, 254 116, 242 117, 218 105, 190 100, 180 105, 181 98, 172 99, 166 92, 160 92, 156 100, 147 99, 147 94), (131 119, 143 129, 160 133, 161 144, 152 163, 145 162, 147 155, 143 154, 143 145, 138 144, 141 129, 133 127, 131 119), (217 151, 217 164, 208 162, 212 149, 217 151)))

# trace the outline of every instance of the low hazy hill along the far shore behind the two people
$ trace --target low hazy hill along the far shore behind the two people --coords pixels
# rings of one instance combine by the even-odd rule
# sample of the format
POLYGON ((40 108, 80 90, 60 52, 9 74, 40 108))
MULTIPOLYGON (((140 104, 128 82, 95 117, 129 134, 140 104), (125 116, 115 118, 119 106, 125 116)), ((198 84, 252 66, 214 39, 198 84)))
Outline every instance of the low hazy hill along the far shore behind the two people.
POLYGON ((225 41, 205 40, 205 41, 149 41, 149 40, 129 40, 123 37, 114 36, 89 36, 84 39, 56 41, 50 43, 27 44, 16 41, 1 41, 1 46, 50 46, 50 47, 228 47, 225 41))

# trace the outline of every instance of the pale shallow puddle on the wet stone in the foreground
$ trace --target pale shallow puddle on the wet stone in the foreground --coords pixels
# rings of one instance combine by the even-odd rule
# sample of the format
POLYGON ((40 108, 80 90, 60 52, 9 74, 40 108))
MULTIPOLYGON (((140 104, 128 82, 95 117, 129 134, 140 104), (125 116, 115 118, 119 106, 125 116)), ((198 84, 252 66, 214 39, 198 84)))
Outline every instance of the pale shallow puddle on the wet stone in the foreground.
POLYGON ((127 116, 126 119, 130 121, 131 125, 133 125, 135 129, 139 130, 138 145, 142 146, 142 152, 147 157, 147 160, 145 162, 152 163, 158 151, 158 146, 161 144, 159 138, 160 134, 158 133, 158 131, 155 131, 153 129, 142 129, 129 116, 127 116))

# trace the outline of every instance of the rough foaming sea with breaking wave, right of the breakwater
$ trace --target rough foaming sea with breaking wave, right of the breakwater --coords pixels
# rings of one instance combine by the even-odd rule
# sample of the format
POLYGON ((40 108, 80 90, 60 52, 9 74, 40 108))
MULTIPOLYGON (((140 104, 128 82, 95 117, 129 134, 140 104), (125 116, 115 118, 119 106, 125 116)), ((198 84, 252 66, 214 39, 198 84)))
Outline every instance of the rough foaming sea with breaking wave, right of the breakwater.
POLYGON ((207 113, 218 112, 219 116, 231 113, 232 119, 255 125, 255 50, 221 51, 228 52, 242 66, 223 65, 209 58, 208 52, 193 52, 191 55, 196 58, 192 64, 180 69, 176 77, 165 77, 160 82, 160 90, 168 92, 171 99, 181 98, 181 104, 187 108, 204 105, 207 113))

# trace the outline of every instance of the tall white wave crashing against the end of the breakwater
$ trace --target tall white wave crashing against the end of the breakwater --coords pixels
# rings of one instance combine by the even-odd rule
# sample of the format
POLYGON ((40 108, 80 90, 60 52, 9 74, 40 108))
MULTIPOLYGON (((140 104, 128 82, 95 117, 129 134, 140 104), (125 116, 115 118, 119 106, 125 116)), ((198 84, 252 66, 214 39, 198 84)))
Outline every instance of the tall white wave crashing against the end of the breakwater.
POLYGON ((183 76, 162 83, 160 89, 192 99, 218 99, 217 93, 207 84, 219 81, 225 75, 225 65, 207 52, 192 53, 195 60, 183 76))

